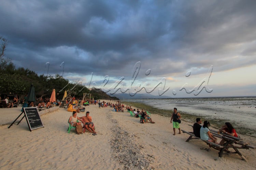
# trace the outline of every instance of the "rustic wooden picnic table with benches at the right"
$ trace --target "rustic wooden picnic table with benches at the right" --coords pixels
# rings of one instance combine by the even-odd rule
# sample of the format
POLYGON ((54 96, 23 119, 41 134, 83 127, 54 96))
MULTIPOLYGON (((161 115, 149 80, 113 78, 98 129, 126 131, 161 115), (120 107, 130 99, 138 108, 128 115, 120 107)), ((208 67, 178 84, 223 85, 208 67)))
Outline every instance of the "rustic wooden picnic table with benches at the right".
MULTIPOLYGON (((192 126, 193 127, 193 126, 192 126)), ((186 140, 186 142, 188 142, 191 139, 201 139, 199 137, 196 137, 193 132, 187 132, 182 130, 183 133, 187 133, 190 136, 188 137, 188 139, 186 140)), ((238 149, 255 149, 256 147, 249 145, 248 143, 244 142, 243 139, 238 138, 238 137, 234 137, 234 136, 230 136, 224 133, 218 133, 217 131, 211 130, 210 132, 213 134, 213 136, 220 138, 220 139, 224 139, 226 142, 224 143, 224 145, 218 145, 216 143, 210 142, 210 141, 205 141, 203 140, 205 143, 210 144, 211 147, 213 149, 216 149, 219 151, 219 157, 222 157, 223 155, 231 155, 231 154, 238 154, 239 156, 241 156, 241 158, 247 162, 247 160, 245 159, 245 157, 241 154, 241 152, 239 152, 238 149), (235 152, 230 152, 227 149, 229 148, 233 148, 235 152)))

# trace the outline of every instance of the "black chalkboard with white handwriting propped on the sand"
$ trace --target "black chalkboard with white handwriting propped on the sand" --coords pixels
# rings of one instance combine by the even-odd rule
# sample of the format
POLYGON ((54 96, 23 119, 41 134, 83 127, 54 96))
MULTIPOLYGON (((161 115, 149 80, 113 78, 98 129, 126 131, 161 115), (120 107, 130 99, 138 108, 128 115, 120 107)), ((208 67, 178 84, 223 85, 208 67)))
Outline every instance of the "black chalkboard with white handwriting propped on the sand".
POLYGON ((23 107, 29 130, 34 130, 44 127, 38 113, 37 107, 23 107))

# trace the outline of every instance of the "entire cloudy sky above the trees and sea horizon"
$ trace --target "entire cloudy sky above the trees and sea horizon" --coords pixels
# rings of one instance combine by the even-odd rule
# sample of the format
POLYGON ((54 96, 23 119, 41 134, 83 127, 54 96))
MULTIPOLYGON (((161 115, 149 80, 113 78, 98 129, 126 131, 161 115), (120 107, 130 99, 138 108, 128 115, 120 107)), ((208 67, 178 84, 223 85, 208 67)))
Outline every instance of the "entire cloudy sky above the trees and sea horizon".
POLYGON ((0 3, 17 68, 111 93, 256 96, 254 0, 0 3))

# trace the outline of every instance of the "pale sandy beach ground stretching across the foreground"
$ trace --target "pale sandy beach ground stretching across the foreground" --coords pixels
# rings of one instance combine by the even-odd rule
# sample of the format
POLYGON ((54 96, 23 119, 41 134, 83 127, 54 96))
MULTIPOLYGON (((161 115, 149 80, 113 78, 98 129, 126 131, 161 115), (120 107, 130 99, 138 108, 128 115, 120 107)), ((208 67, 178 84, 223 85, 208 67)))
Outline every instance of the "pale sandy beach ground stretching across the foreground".
MULTIPOLYGON (((113 102, 113 101, 111 101, 113 102)), ((240 149, 238 154, 223 155, 201 140, 185 142, 188 134, 173 134, 170 118, 151 115, 155 124, 141 124, 128 112, 86 106, 97 135, 86 131, 67 132, 71 112, 53 107, 41 115, 44 128, 29 131, 26 119, 8 126, 21 113, 21 107, 0 108, 0 169, 255 169, 256 150, 240 149)), ((140 108, 141 110, 142 108, 140 108)), ((40 113, 41 114, 41 113, 40 113)), ((77 116, 84 116, 85 112, 77 116)), ((181 129, 191 131, 185 121, 181 129)), ((255 146, 255 138, 240 135, 255 146)), ((230 149, 231 150, 231 149, 230 149)))

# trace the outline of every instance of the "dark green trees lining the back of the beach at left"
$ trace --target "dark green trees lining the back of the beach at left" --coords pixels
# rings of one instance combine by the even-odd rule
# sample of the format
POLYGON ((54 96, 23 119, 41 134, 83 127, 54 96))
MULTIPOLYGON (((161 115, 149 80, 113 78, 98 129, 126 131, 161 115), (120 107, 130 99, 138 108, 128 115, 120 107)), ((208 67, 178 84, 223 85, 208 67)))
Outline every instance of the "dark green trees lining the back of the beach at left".
POLYGON ((10 58, 4 58, 7 40, 0 36, 0 95, 1 94, 17 94, 25 95, 32 84, 35 88, 37 97, 51 97, 53 89, 56 91, 56 97, 62 99, 65 90, 71 91, 71 96, 82 98, 83 94, 92 94, 94 99, 110 99, 111 97, 101 90, 92 90, 92 92, 84 85, 79 83, 71 83, 59 74, 55 77, 46 77, 38 75, 34 71, 19 67, 15 69, 10 58))

